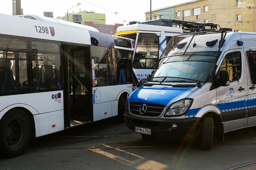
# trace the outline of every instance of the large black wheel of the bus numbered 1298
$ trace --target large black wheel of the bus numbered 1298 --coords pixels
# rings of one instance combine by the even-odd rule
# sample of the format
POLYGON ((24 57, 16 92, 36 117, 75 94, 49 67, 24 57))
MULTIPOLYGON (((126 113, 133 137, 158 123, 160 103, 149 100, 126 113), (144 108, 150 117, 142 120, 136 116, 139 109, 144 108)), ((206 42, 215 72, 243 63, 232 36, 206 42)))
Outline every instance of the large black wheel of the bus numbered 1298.
POLYGON ((7 157, 17 157, 29 145, 31 123, 28 115, 20 109, 13 109, 3 116, 0 124, 0 151, 7 157))

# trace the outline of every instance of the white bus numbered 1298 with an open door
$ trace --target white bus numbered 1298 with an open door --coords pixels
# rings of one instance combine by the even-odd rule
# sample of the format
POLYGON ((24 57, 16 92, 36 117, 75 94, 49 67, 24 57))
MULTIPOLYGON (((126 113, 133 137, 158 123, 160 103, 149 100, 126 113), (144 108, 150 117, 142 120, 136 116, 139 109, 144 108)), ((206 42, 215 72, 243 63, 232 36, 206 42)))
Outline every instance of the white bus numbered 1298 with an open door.
POLYGON ((133 89, 131 39, 47 17, 0 20, 0 152, 15 157, 31 138, 123 119, 133 89))

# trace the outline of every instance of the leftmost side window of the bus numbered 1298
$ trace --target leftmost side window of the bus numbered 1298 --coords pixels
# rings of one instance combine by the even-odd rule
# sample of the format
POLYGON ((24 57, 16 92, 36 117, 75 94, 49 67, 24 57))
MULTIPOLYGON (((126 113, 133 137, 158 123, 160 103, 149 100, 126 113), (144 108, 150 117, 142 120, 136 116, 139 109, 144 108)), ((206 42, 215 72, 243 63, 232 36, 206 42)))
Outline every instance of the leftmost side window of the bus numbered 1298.
POLYGON ((27 40, 0 37, 0 42, 0 94, 22 92, 28 76, 27 40))

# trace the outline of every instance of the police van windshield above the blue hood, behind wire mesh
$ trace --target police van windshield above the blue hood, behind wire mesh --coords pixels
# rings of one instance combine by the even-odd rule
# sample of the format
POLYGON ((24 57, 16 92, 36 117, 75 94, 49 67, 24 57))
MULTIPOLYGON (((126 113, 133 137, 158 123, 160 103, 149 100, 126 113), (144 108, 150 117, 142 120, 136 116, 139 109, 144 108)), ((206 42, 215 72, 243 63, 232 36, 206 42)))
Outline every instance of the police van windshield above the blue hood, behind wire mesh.
POLYGON ((157 77, 175 77, 204 82, 210 74, 216 57, 200 55, 182 55, 167 57, 152 75, 157 77))

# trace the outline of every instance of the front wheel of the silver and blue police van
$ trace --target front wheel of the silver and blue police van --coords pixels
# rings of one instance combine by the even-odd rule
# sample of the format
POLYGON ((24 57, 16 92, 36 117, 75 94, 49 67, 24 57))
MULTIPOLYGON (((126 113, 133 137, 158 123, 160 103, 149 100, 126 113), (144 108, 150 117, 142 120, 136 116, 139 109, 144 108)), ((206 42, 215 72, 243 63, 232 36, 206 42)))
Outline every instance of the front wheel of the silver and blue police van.
POLYGON ((210 150, 212 148, 214 122, 213 118, 206 116, 202 122, 201 144, 200 148, 210 150))

